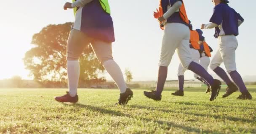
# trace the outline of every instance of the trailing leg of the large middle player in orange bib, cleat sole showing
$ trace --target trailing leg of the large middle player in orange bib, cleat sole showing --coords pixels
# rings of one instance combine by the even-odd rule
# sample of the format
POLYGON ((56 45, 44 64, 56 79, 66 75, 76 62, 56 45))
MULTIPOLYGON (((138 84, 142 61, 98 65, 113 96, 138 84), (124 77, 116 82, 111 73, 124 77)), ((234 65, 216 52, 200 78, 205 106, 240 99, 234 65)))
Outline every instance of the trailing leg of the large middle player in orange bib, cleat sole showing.
POLYGON ((184 40, 181 41, 181 44, 178 47, 179 59, 181 60, 181 64, 184 68, 187 68, 188 70, 196 73, 211 85, 212 93, 210 101, 213 101, 219 94, 221 82, 219 80, 214 80, 213 77, 200 64, 192 61, 191 54, 189 52, 190 48, 188 45, 189 38, 190 35, 188 34, 187 38, 184 38, 184 40))

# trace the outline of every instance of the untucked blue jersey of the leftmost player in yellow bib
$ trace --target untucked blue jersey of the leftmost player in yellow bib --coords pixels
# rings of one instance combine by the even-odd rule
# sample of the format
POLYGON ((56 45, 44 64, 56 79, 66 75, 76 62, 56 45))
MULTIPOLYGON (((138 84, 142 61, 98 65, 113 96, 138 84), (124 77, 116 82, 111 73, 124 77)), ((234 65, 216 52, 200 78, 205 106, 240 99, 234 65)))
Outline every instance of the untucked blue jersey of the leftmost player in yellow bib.
POLYGON ((93 0, 83 7, 81 31, 94 39, 115 41, 112 17, 102 9, 99 0, 93 0))

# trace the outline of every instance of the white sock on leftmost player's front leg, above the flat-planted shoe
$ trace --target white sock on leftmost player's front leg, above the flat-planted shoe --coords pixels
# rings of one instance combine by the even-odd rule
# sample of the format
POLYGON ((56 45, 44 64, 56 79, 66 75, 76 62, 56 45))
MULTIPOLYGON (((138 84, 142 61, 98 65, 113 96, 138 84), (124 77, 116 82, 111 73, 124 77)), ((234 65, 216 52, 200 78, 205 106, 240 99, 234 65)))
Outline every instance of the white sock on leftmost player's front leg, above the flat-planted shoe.
POLYGON ((69 82, 69 95, 75 97, 77 95, 77 87, 80 75, 80 64, 78 60, 67 61, 67 77, 69 82))

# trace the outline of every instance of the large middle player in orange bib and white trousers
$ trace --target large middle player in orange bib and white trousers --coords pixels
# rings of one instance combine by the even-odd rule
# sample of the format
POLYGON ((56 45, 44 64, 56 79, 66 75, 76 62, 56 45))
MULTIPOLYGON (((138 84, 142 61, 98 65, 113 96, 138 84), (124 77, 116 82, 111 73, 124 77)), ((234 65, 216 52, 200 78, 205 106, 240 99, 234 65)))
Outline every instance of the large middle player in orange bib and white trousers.
POLYGON ((200 64, 193 62, 189 52, 189 19, 183 0, 160 0, 160 8, 154 13, 158 18, 160 28, 164 29, 162 49, 159 62, 159 71, 156 90, 144 91, 144 95, 155 101, 160 101, 167 77, 168 66, 177 49, 179 59, 185 69, 196 73, 211 85, 210 101, 219 94, 221 82, 213 77, 200 64))

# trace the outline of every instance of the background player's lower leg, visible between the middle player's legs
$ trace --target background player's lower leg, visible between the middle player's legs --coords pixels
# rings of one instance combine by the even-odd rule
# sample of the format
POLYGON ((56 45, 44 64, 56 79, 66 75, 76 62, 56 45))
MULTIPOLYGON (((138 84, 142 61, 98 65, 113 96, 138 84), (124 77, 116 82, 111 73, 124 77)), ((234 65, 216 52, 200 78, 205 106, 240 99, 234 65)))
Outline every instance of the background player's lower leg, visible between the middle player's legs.
POLYGON ((171 93, 171 95, 175 95, 175 96, 184 96, 184 72, 186 71, 186 69, 184 67, 182 67, 181 63, 179 64, 179 68, 178 68, 178 82, 179 82, 179 90, 177 90, 174 93, 171 93))

